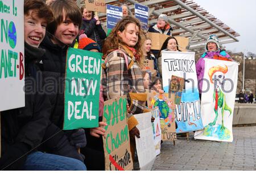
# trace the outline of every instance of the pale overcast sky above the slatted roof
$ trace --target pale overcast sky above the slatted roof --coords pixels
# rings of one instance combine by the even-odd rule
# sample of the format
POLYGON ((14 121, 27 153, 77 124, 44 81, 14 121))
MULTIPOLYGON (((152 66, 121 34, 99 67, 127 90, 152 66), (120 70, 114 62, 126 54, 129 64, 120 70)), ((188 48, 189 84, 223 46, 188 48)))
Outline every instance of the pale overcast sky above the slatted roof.
POLYGON ((256 53, 256 1, 255 0, 193 0, 208 13, 238 32, 240 42, 224 44, 233 52, 256 53))

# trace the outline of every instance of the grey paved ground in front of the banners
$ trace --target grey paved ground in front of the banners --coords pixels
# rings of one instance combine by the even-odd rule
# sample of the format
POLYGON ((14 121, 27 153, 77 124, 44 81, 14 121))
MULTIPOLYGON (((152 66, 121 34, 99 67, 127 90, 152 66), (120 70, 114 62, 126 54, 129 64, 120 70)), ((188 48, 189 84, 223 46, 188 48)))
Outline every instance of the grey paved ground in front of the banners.
POLYGON ((256 170, 256 126, 233 127, 232 143, 177 137, 164 142, 152 170, 256 170))

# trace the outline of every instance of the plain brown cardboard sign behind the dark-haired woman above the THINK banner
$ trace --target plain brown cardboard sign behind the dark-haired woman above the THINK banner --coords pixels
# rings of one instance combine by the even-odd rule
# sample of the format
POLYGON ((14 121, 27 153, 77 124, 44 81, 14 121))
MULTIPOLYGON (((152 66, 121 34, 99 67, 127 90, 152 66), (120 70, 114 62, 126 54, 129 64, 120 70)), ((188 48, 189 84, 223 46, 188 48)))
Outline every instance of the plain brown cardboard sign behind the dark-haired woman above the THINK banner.
MULTIPOLYGON (((152 40, 152 47, 153 50, 160 50, 163 46, 164 41, 169 37, 169 35, 159 34, 159 33, 153 33, 153 32, 147 32, 148 37, 152 40)), ((186 52, 187 50, 184 49, 188 46, 189 39, 184 38, 182 36, 175 36, 177 39, 178 45, 180 46, 180 51, 186 52), (182 48, 181 48, 182 47, 182 48)))

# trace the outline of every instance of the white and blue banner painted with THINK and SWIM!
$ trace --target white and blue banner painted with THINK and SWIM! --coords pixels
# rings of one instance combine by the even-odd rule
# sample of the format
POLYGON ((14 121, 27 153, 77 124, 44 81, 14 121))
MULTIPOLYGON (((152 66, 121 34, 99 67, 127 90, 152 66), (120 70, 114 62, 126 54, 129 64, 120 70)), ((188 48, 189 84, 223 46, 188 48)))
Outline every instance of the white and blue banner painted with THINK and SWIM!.
POLYGON ((164 92, 168 93, 172 76, 184 78, 181 102, 176 105, 176 133, 202 130, 195 52, 162 51, 164 92))

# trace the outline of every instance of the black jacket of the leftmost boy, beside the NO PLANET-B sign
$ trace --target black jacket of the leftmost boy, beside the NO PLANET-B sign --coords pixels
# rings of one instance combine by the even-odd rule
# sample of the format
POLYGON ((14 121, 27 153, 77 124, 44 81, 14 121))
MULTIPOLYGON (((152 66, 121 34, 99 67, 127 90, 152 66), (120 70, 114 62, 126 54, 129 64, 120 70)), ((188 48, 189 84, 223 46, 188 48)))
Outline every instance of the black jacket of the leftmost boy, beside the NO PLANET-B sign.
POLYGON ((27 155, 42 142, 49 121, 49 100, 42 92, 42 74, 35 65, 44 51, 25 44, 25 107, 1 112, 0 169, 22 169, 27 155))

